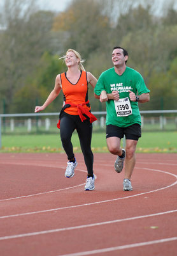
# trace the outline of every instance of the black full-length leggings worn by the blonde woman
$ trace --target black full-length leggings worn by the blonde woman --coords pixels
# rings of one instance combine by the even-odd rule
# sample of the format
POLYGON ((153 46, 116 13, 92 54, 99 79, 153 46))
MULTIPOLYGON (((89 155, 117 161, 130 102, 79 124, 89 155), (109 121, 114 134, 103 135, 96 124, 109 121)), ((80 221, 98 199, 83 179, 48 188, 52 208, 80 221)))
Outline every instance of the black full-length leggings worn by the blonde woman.
POLYGON ((74 129, 78 132, 88 175, 93 175, 94 155, 91 150, 92 124, 90 124, 89 118, 81 122, 80 116, 73 116, 63 112, 60 116, 60 138, 68 160, 74 157, 73 144, 71 142, 74 129))

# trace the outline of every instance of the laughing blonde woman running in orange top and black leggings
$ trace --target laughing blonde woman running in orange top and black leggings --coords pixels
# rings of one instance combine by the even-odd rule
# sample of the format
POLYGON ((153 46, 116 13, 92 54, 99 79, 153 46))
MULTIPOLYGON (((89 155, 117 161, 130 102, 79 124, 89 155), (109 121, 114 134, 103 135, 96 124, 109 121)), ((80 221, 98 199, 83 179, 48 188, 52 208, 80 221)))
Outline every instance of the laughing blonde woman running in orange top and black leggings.
POLYGON ((43 111, 62 90, 64 104, 60 111, 57 127, 60 129, 62 146, 68 159, 65 177, 73 177, 74 169, 77 166, 71 142, 71 136, 76 129, 88 172, 85 190, 93 190, 95 188, 95 176, 93 172, 94 156, 91 150, 91 140, 92 122, 96 120, 96 117, 90 112, 88 83, 94 88, 97 79, 90 72, 85 71, 82 65, 83 60, 81 60, 80 54, 75 50, 68 49, 66 55, 62 58, 65 60, 67 71, 57 75, 52 92, 43 106, 36 106, 35 113, 43 111))

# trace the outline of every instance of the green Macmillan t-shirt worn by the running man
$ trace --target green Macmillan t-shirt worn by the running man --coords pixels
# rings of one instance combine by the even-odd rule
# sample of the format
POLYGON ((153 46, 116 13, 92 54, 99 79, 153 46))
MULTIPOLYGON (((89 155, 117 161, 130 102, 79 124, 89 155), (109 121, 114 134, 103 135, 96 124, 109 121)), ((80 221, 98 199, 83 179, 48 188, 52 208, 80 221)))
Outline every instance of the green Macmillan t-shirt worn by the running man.
MULTIPOLYGON (((96 95, 100 95, 103 90, 105 90, 106 93, 111 93, 113 90, 117 90, 120 99, 126 97, 129 98, 129 90, 135 94, 138 93, 138 95, 150 92, 150 90, 146 88, 145 81, 141 74, 129 67, 125 68, 125 71, 121 76, 115 72, 114 67, 104 71, 97 81, 94 92, 96 95)), ((130 102, 132 114, 129 116, 117 116, 114 100, 108 100, 106 102, 106 125, 112 124, 119 127, 127 127, 132 124, 141 125, 138 102, 132 102, 131 100, 130 102)))

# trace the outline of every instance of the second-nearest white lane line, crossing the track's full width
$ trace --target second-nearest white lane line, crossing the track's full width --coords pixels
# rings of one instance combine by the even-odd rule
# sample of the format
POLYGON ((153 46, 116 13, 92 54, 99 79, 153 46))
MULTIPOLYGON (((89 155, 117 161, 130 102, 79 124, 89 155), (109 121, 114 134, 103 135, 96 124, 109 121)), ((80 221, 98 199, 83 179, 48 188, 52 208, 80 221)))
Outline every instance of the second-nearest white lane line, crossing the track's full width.
POLYGON ((112 223, 118 223, 118 222, 129 221, 129 220, 138 220, 138 219, 142 219, 142 218, 150 218, 150 217, 154 217, 154 216, 170 214, 170 213, 173 213, 173 212, 177 212, 177 209, 173 210, 173 211, 158 212, 158 213, 154 213, 154 214, 148 214, 148 215, 143 215, 143 216, 125 218, 125 219, 121 219, 121 220, 103 221, 103 222, 97 222, 97 223, 92 223, 92 224, 87 224, 87 225, 80 225, 80 226, 75 226, 75 227, 56 228, 56 229, 52 229, 52 230, 43 230, 43 231, 31 232, 31 233, 25 233, 25 234, 18 234, 18 235, 13 235, 13 236, 4 236, 4 237, 0 237, 0 241, 1 240, 7 240, 7 239, 28 237, 28 236, 39 236, 39 235, 43 235, 43 234, 50 234, 50 233, 55 233, 55 232, 67 231, 67 230, 90 228, 90 227, 96 227, 96 226, 101 226, 101 225, 109 225, 109 224, 112 224, 112 223))

